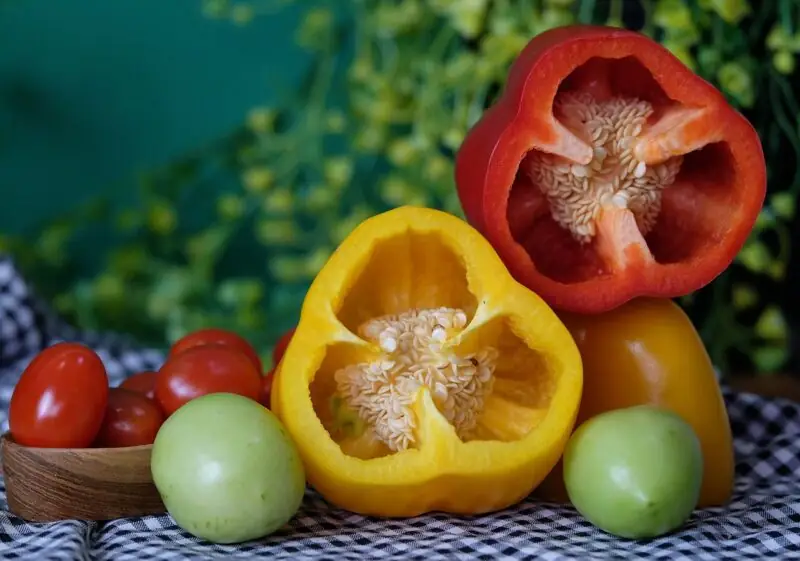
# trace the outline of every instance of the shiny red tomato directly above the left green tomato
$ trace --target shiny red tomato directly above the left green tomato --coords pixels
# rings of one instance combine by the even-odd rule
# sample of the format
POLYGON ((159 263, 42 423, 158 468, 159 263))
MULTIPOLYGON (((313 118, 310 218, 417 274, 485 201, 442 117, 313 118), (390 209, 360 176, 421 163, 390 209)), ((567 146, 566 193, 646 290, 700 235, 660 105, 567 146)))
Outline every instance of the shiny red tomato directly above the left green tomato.
POLYGON ((192 347, 170 356, 156 376, 156 400, 167 416, 196 397, 219 392, 254 401, 261 394, 261 372, 232 347, 192 347))

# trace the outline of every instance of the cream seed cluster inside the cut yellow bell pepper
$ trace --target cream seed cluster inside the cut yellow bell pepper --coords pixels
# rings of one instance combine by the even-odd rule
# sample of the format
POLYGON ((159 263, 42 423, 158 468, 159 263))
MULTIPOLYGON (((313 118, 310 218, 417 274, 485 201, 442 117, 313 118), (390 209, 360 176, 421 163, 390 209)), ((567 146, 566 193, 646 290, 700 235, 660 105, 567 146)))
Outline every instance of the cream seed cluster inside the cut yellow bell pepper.
POLYGON ((449 349, 447 341, 466 324, 464 311, 442 307, 359 326, 359 334, 378 344, 383 356, 337 370, 337 393, 390 450, 417 444, 414 400, 422 386, 461 439, 475 430, 492 392, 497 351, 485 347, 462 356, 449 349))

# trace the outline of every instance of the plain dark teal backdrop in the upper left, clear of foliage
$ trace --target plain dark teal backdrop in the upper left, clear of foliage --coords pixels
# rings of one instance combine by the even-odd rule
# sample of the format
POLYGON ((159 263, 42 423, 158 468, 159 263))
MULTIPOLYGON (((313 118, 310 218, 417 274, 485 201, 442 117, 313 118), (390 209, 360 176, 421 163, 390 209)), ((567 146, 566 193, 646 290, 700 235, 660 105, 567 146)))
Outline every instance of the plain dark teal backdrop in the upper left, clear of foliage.
POLYGON ((33 232, 202 147, 296 84, 299 11, 244 27, 199 0, 0 0, 0 232, 33 232))

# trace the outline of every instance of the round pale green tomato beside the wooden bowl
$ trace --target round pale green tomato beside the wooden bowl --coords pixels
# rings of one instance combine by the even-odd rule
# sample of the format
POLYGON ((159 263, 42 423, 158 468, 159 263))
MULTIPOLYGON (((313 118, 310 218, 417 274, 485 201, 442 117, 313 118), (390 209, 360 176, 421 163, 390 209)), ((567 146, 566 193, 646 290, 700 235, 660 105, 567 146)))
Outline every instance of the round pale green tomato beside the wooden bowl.
POLYGON ((216 543, 271 534, 295 515, 305 492, 299 453, 278 418, 230 393, 175 411, 156 436, 150 467, 175 522, 216 543))

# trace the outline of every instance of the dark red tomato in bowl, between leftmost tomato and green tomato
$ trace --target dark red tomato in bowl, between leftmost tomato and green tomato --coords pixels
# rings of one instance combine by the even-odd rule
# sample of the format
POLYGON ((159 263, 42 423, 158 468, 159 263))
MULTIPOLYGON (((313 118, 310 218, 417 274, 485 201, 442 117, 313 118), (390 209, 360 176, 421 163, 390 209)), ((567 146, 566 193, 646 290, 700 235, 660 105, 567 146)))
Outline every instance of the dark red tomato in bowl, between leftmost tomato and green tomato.
POLYGON ((111 388, 94 445, 119 448, 152 444, 163 422, 164 414, 153 400, 131 390, 111 388))

